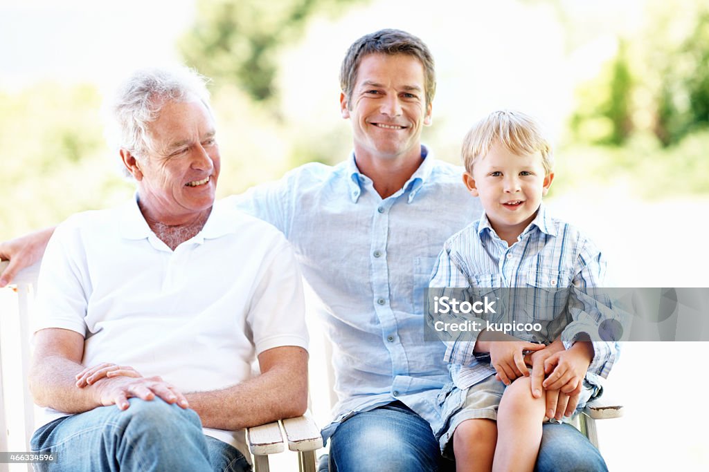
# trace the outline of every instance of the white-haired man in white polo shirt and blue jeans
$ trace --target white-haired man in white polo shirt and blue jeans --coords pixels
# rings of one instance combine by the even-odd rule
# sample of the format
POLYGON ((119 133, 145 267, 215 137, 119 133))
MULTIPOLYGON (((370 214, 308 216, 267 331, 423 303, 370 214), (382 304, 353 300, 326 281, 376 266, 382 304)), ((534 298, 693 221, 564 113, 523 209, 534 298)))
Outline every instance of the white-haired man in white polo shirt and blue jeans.
POLYGON ((48 422, 33 450, 66 471, 249 470, 242 428, 306 409, 294 254, 269 224, 213 205, 201 77, 138 71, 111 113, 138 191, 68 219, 48 244, 30 371, 48 422))

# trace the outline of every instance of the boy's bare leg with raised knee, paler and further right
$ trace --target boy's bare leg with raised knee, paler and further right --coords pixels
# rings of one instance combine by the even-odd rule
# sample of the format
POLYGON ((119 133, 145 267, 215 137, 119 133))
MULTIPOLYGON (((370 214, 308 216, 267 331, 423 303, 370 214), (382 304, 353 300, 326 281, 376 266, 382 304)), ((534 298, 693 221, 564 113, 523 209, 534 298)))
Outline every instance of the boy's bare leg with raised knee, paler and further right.
POLYGON ((532 472, 542 440, 546 398, 532 397, 529 377, 505 389, 497 413, 498 439, 493 470, 532 472))

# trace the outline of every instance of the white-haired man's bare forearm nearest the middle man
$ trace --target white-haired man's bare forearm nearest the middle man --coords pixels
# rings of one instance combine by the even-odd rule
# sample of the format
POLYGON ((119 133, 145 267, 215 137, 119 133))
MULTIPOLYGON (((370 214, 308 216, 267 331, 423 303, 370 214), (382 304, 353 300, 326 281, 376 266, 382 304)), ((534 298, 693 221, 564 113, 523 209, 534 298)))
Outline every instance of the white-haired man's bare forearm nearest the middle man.
POLYGON ((186 394, 205 427, 239 430, 281 418, 293 418, 308 408, 308 353, 299 347, 288 362, 253 379, 222 390, 186 394))

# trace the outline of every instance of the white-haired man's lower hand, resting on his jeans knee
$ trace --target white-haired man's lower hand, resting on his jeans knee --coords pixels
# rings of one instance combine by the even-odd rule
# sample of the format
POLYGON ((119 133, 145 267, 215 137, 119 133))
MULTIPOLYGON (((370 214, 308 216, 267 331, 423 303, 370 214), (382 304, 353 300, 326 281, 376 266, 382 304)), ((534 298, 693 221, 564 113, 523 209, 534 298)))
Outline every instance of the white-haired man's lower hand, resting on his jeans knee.
POLYGON ((104 406, 116 405, 119 410, 125 410, 130 406, 128 398, 136 397, 151 401, 156 396, 167 403, 177 403, 180 408, 189 408, 184 395, 159 376, 105 376, 93 381, 92 386, 96 392, 96 401, 104 406))

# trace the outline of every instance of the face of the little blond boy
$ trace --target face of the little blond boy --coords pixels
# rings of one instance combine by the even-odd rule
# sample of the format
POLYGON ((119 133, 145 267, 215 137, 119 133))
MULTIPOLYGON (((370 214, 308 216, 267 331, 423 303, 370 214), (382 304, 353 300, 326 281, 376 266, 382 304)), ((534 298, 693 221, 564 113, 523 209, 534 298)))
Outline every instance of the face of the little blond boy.
POLYGON ((495 232, 508 242, 535 218, 553 179, 554 173, 545 175, 540 153, 520 156, 499 143, 474 163, 472 175, 463 175, 470 193, 480 197, 495 232))

